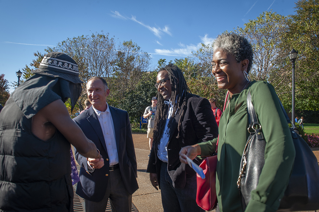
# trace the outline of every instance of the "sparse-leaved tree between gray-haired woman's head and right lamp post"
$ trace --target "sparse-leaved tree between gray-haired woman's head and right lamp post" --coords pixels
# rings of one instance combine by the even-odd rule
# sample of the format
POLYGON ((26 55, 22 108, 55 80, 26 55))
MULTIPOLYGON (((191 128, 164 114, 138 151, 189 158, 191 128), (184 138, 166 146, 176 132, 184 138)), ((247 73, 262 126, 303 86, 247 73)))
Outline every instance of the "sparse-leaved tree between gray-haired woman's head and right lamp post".
POLYGON ((264 11, 255 20, 245 23, 245 28, 237 27, 235 30, 253 46, 254 63, 249 73, 251 78, 271 83, 270 73, 282 67, 282 59, 287 55, 283 54, 279 44, 282 42, 282 34, 288 28, 286 19, 276 12, 264 11))

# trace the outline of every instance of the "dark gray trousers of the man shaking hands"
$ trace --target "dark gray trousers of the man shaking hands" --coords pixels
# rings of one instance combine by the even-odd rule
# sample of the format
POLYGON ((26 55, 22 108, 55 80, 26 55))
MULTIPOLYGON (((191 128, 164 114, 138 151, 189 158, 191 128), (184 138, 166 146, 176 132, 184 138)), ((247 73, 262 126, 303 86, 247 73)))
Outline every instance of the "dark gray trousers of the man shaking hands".
MULTIPOLYGON (((101 182, 102 183, 102 182, 101 182)), ((85 201, 86 212, 105 212, 108 199, 110 199, 112 212, 131 212, 132 195, 129 194, 123 184, 120 169, 110 171, 108 188, 100 202, 85 201)))

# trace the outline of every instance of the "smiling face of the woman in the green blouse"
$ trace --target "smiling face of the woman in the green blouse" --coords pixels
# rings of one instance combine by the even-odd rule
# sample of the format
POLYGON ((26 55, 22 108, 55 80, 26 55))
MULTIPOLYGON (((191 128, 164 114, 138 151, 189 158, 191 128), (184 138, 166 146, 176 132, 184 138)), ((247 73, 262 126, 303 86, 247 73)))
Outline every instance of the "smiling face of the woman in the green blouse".
POLYGON ((231 92, 243 81, 242 63, 238 63, 234 55, 226 54, 218 48, 214 52, 211 66, 211 72, 216 77, 220 89, 228 89, 231 92))

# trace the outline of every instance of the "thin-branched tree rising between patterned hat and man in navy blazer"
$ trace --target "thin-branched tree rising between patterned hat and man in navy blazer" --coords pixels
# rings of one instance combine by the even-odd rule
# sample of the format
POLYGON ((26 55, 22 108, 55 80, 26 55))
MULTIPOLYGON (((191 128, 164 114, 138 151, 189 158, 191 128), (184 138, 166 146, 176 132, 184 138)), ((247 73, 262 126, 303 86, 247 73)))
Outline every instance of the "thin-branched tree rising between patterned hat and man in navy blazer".
POLYGON ((104 77, 110 84, 109 78, 114 74, 114 59, 116 57, 116 46, 113 37, 109 34, 92 33, 73 38, 67 38, 59 42, 54 48, 45 49, 47 52, 63 52, 78 64, 79 78, 84 82, 82 93, 78 99, 80 110, 84 108, 87 98, 86 82, 93 76, 104 77))

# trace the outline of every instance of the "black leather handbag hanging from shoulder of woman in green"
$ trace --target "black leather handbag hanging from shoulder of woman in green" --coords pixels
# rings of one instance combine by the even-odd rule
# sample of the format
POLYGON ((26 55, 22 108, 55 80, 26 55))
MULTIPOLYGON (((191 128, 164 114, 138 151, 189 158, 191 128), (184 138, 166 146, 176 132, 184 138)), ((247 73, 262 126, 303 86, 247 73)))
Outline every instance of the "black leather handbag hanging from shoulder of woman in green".
MULTIPOLYGON (((280 100, 279 100, 280 102, 280 100)), ((281 104, 281 103, 280 103, 281 104)), ((261 125, 251 102, 250 90, 247 96, 249 130, 251 132, 243 156, 237 186, 241 193, 243 211, 250 201, 250 192, 256 189, 264 164, 265 141, 261 125), (262 157, 260 157, 262 156, 262 157)), ((281 104, 288 123, 289 117, 281 104)), ((319 209, 319 165, 308 144, 290 128, 296 150, 293 172, 278 211, 307 211, 319 209)))

